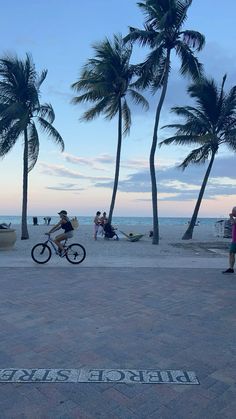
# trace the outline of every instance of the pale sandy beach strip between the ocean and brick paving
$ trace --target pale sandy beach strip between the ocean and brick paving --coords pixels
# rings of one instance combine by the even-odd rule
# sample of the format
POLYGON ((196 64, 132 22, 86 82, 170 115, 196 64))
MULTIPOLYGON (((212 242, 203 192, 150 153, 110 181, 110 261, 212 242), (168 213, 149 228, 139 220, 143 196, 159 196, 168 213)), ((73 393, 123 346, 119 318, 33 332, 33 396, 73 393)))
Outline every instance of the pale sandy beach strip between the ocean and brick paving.
MULTIPOLYGON (((51 226, 50 226, 51 227, 51 226)), ((31 248, 46 240, 44 233, 49 230, 45 225, 29 225, 29 240, 20 240, 20 226, 16 225, 17 241, 14 249, 0 251, 1 267, 37 267, 63 266, 72 269, 83 267, 186 267, 186 268, 225 268, 228 265, 228 245, 230 239, 215 237, 212 226, 200 225, 194 230, 192 240, 181 240, 186 225, 165 226, 160 231, 160 244, 153 245, 149 238, 151 226, 119 226, 119 241, 93 239, 93 225, 80 226, 71 242, 84 245, 87 252, 85 261, 74 267, 65 258, 52 256, 46 265, 37 265, 31 259, 31 248), (143 233, 138 242, 131 243, 119 232, 143 233), (210 250, 209 250, 210 249, 210 250)), ((58 232, 56 233, 58 234, 58 232)))

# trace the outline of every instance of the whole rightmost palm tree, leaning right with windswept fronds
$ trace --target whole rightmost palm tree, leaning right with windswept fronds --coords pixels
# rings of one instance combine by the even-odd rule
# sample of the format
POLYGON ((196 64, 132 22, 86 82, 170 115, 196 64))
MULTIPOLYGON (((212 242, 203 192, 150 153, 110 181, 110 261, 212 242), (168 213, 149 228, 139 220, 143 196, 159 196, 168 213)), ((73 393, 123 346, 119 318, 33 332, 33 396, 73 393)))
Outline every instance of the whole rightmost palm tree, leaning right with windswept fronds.
POLYGON ((199 145, 181 163, 180 167, 183 169, 189 164, 202 164, 209 160, 191 221, 182 237, 183 240, 189 240, 193 236, 204 191, 219 147, 225 144, 234 152, 236 151, 236 86, 229 93, 225 93, 225 80, 226 76, 223 77, 220 88, 213 79, 207 78, 192 84, 188 88, 188 93, 196 101, 196 107, 172 108, 176 115, 184 118, 184 122, 167 125, 166 127, 175 128, 177 131, 173 137, 160 143, 160 145, 199 145))

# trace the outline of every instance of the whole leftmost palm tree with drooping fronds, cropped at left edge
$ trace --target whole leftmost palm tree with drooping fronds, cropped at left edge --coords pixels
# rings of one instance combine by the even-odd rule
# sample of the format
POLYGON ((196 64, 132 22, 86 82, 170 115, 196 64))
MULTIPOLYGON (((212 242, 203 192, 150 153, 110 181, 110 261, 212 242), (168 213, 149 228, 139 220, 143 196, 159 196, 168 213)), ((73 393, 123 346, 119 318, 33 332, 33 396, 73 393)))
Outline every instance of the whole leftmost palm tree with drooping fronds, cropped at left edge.
POLYGON ((21 239, 28 239, 27 198, 28 173, 33 169, 39 154, 39 136, 35 121, 61 150, 64 142, 52 123, 55 119, 50 104, 40 104, 40 86, 47 71, 40 75, 35 70, 30 54, 25 59, 5 56, 0 59, 0 157, 5 157, 19 137, 24 139, 23 199, 21 239))

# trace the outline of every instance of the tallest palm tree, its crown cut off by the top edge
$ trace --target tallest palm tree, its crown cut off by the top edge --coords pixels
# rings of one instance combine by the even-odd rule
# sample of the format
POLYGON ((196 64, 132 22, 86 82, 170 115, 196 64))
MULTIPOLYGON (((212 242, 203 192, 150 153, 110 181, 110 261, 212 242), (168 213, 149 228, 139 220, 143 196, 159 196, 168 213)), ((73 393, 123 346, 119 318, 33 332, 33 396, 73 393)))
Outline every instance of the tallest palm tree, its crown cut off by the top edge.
POLYGON ((190 75, 195 80, 202 73, 202 66, 195 57, 194 50, 200 51, 203 48, 204 36, 193 30, 183 30, 191 3, 192 0, 143 0, 137 3, 146 17, 144 29, 130 27, 130 33, 125 37, 125 41, 138 41, 141 46, 151 49, 146 60, 137 66, 139 78, 135 86, 151 88, 153 94, 159 88, 162 89, 156 109, 149 157, 152 183, 153 244, 159 244, 155 152, 159 119, 171 70, 171 53, 175 52, 180 58, 180 73, 183 76, 190 75))

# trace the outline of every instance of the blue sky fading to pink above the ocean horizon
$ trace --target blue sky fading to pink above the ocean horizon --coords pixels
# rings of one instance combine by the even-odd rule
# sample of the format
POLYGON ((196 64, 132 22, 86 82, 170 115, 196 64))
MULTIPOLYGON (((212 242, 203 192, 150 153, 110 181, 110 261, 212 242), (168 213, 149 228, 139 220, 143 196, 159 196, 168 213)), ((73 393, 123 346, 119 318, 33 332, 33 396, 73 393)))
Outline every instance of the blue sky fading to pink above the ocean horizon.
MULTIPOLYGON (((29 174, 29 215, 53 215, 66 209, 73 215, 108 211, 117 146, 117 119, 102 116, 81 122, 85 105, 74 106, 72 83, 82 66, 93 57, 92 45, 113 34, 125 36, 128 27, 141 28, 144 22, 136 0, 0 0, 0 56, 30 52, 38 72, 48 70, 41 89, 41 103, 50 102, 54 126, 65 142, 65 152, 40 133, 40 155, 29 174)), ((198 54, 208 76, 221 82, 227 73, 226 88, 236 84, 235 0, 193 0, 184 29, 206 37, 198 54)), ((132 62, 145 52, 134 48, 132 62)), ((189 80, 178 73, 173 57, 172 72, 160 126, 173 123, 172 106, 189 104, 189 80)), ((132 127, 123 139, 120 181, 115 216, 152 216, 149 152, 158 94, 150 96, 150 109, 131 106, 132 127)), ((168 136, 159 131, 159 139, 168 136)), ((190 217, 206 166, 190 166, 184 172, 178 164, 190 151, 187 147, 157 148, 156 173, 158 208, 162 217, 190 217)), ((236 205, 235 155, 221 149, 216 158, 199 216, 225 217, 236 205)), ((0 160, 0 215, 20 215, 22 205, 22 139, 0 160)))

